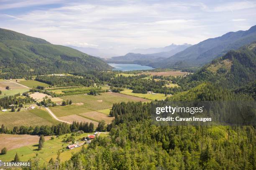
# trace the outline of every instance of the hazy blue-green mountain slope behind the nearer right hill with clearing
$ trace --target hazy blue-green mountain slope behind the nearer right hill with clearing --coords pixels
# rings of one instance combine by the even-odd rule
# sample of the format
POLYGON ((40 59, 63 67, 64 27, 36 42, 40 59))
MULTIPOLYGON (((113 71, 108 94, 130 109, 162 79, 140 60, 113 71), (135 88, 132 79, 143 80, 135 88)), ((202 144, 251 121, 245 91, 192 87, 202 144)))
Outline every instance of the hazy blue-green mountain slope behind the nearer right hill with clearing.
POLYGON ((196 45, 178 52, 168 59, 151 63, 152 67, 193 67, 202 66, 211 60, 224 55, 229 50, 256 40, 256 25, 246 31, 228 32, 220 37, 204 40, 196 45))

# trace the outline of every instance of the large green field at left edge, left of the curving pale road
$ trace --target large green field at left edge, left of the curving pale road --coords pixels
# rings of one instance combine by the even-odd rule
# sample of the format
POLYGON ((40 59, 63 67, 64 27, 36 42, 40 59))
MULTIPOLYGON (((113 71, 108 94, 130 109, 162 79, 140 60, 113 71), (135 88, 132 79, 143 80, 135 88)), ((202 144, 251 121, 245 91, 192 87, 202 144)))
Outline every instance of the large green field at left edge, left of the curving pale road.
POLYGON ((5 125, 8 129, 14 126, 40 126, 40 125, 53 125, 59 123, 54 120, 48 112, 36 110, 24 110, 20 112, 3 112, 0 114, 0 125, 5 125))

